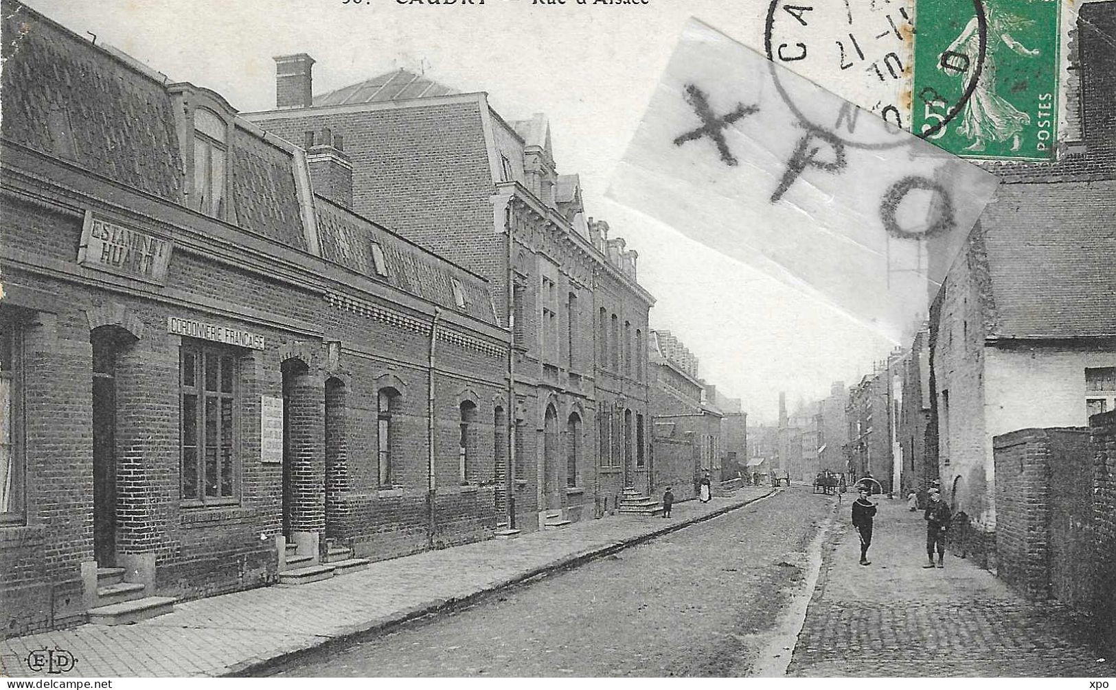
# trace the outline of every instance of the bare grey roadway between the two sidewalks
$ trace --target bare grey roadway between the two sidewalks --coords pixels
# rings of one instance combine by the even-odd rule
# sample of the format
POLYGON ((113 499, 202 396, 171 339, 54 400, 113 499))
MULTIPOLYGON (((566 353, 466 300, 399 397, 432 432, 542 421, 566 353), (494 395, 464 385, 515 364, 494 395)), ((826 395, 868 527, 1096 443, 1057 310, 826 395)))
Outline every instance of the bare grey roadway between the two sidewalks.
POLYGON ((830 496, 804 487, 275 670, 281 676, 744 676, 830 496))

